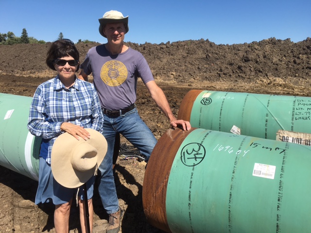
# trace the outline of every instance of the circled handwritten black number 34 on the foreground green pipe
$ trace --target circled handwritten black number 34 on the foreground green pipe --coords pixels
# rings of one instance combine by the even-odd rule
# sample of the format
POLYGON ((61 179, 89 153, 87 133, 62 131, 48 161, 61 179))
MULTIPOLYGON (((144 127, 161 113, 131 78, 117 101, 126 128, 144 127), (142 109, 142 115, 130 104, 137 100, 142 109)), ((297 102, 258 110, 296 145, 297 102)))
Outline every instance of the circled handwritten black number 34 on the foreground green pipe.
POLYGON ((180 159, 186 166, 196 166, 205 157, 205 147, 200 143, 189 143, 181 150, 180 159))

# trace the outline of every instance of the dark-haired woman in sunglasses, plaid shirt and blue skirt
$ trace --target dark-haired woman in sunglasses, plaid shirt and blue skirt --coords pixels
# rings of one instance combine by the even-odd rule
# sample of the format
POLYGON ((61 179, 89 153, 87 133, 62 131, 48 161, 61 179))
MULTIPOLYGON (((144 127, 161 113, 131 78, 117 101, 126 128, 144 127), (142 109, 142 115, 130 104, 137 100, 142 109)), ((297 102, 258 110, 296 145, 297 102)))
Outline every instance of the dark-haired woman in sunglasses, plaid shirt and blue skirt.
MULTIPOLYGON (((69 232, 69 214, 72 197, 77 189, 57 183, 51 172, 51 152, 54 141, 62 133, 69 133, 77 140, 90 138, 85 128, 102 133, 103 115, 94 85, 77 79, 79 52, 68 39, 57 40, 48 50, 46 64, 57 71, 55 78, 40 84, 30 107, 28 130, 42 137, 39 155, 39 185, 35 204, 50 200, 55 204, 54 225, 56 232, 69 232)), ((86 182, 89 223, 93 223, 93 184, 95 177, 86 182)), ((86 232, 82 188, 78 203, 82 232, 86 232)))

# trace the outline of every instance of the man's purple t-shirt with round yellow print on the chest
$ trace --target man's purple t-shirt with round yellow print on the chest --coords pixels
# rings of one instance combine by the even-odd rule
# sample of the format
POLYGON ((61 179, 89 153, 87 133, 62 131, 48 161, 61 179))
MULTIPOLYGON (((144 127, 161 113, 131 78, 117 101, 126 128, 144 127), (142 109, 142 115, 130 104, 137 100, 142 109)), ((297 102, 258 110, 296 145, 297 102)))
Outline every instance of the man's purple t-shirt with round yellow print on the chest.
POLYGON ((88 50, 81 68, 87 75, 93 73, 101 105, 110 110, 124 109, 135 103, 138 77, 143 83, 154 80, 146 59, 131 48, 110 55, 104 45, 93 47, 88 50))

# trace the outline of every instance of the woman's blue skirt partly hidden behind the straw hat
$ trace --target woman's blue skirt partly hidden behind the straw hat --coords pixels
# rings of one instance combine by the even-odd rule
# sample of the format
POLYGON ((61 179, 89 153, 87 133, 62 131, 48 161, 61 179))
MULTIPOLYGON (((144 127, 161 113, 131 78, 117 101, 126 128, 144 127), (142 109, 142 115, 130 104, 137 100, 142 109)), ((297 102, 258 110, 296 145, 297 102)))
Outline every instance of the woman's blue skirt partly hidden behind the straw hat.
MULTIPOLYGON (((86 182, 87 200, 93 197, 95 176, 86 182)), ((44 158, 39 158, 39 184, 35 195, 35 204, 40 202, 50 202, 54 205, 60 205, 69 202, 73 196, 76 196, 78 188, 66 188, 57 183, 54 179, 51 165, 44 158)), ((84 200, 83 187, 79 188, 78 196, 84 200)))

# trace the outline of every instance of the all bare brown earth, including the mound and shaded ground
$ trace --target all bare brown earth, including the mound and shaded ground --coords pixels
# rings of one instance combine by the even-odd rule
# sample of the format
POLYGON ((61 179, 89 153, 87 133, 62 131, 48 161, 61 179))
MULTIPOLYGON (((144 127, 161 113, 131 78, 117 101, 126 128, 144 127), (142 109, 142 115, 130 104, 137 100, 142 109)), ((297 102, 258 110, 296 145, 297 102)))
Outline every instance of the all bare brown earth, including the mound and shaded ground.
MULTIPOLYGON (((97 44, 78 44, 81 61, 97 44)), ((173 113, 191 89, 311 96, 311 40, 293 43, 270 38, 239 45, 215 45, 208 40, 166 44, 128 45, 147 59, 156 82, 165 92, 173 113)), ((44 61, 49 44, 0 46, 0 92, 32 97, 38 84, 52 78, 44 61)), ((138 83, 141 118, 158 139, 168 120, 138 83)), ((121 143, 128 142, 121 138, 121 143)), ((122 233, 162 233, 150 226, 142 207, 145 168, 136 159, 119 160, 115 169, 121 208, 122 233)), ((0 233, 54 232, 53 206, 34 204, 37 182, 0 166, 0 233)), ((97 190, 94 193, 94 233, 104 232, 108 216, 97 190)), ((72 207, 70 232, 80 232, 79 213, 72 207)))

